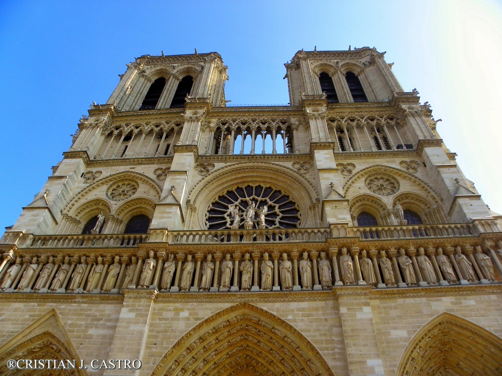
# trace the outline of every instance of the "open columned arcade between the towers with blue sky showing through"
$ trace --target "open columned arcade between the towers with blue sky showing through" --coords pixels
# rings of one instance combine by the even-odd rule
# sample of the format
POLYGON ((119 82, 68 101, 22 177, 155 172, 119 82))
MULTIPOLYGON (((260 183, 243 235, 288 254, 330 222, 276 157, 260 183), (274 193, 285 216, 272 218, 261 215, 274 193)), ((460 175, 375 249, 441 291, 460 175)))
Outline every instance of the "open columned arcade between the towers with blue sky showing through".
POLYGON ((212 154, 288 154, 293 153, 293 130, 286 121, 227 123, 214 132, 212 154))

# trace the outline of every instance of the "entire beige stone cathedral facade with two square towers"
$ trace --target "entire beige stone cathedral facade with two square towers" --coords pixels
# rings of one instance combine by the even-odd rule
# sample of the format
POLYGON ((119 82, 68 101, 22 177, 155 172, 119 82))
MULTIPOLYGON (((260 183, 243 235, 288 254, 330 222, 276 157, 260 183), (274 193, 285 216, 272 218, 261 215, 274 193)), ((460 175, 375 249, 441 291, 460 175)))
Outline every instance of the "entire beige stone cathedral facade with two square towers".
POLYGON ((0 373, 502 374, 502 217, 384 55, 299 51, 272 107, 128 64, 0 240, 0 373))

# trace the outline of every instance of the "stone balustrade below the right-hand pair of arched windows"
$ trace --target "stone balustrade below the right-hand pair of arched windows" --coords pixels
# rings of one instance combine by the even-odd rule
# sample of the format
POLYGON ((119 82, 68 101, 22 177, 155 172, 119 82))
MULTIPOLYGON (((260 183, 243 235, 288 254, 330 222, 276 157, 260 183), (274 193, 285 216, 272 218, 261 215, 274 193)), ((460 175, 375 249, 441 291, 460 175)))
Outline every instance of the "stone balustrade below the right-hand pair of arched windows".
POLYGON ((441 238, 478 235, 476 227, 470 223, 350 227, 347 230, 348 236, 358 237, 359 239, 441 238))

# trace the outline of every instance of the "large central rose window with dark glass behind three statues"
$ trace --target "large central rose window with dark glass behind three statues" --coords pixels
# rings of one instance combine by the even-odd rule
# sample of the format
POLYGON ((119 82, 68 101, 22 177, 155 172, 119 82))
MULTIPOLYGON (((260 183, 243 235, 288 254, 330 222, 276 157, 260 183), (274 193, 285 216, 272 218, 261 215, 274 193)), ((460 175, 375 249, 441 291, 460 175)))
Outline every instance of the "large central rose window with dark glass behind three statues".
POLYGON ((233 225, 234 229, 244 229, 247 218, 253 223, 253 229, 258 229, 260 211, 266 212, 265 227, 262 225, 261 228, 297 228, 301 221, 300 209, 289 195, 270 186, 250 184, 232 188, 218 196, 207 209, 206 227, 221 230, 231 229, 233 225), (248 210, 252 202, 255 209, 248 210), (235 216, 237 211, 238 217, 235 216))

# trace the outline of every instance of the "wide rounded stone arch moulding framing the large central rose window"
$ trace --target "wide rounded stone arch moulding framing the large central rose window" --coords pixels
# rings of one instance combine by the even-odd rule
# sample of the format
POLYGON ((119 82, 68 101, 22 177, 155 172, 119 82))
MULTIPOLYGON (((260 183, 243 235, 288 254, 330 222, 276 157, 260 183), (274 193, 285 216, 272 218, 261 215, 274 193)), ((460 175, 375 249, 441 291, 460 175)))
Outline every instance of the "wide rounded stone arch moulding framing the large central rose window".
POLYGON ((239 162, 212 171, 188 194, 187 203, 200 208, 197 216, 200 228, 205 228, 205 211, 218 195, 236 185, 246 184, 267 184, 290 195, 300 207, 301 227, 313 225, 310 211, 311 206, 319 202, 319 194, 310 181, 281 164, 239 162))

